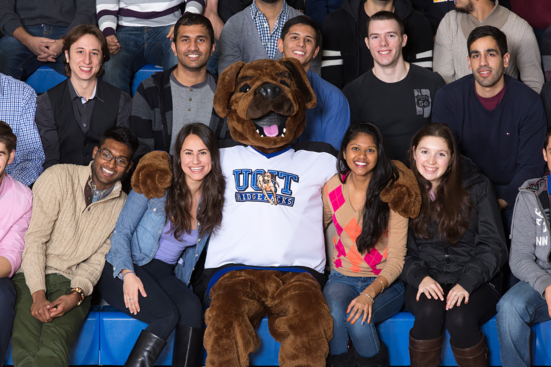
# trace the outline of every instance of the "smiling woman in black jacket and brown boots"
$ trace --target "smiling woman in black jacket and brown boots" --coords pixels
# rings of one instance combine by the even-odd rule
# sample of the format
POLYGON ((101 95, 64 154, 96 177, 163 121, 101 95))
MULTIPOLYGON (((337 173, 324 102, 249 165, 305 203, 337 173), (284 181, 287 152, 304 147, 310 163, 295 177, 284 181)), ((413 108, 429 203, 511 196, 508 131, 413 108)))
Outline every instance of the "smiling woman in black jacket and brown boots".
POLYGON ((402 273, 406 307, 415 315, 411 366, 438 366, 444 322, 457 366, 488 366, 479 325, 495 315, 499 269, 508 258, 497 197, 488 178, 459 156, 448 125, 433 123, 413 136, 410 167, 422 193, 402 273))

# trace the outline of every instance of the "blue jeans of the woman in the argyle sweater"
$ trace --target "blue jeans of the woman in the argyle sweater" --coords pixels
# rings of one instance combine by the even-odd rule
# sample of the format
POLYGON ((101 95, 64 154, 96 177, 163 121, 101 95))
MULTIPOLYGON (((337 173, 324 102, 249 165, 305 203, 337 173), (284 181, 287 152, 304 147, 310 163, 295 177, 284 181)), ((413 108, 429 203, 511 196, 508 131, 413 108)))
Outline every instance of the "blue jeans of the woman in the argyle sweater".
POLYGON ((332 270, 325 284, 323 295, 333 316, 333 339, 329 342, 329 354, 341 355, 348 350, 350 339, 357 353, 362 357, 373 357, 381 350, 375 324, 379 324, 398 313, 404 306, 404 284, 396 280, 377 295, 371 313, 371 322, 347 322, 346 308, 360 295, 375 277, 349 277, 332 270))

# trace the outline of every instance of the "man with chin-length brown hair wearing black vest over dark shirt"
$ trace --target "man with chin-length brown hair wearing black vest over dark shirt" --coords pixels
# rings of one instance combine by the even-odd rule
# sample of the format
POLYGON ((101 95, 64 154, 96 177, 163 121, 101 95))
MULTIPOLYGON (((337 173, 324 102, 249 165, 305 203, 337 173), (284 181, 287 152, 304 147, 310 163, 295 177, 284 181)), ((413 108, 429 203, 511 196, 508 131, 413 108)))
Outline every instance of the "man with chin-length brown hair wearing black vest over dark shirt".
POLYGON ((59 163, 87 165, 105 130, 128 126, 132 99, 101 80, 109 60, 107 40, 91 24, 77 25, 65 37, 67 80, 37 98, 34 121, 44 148, 44 169, 59 163))

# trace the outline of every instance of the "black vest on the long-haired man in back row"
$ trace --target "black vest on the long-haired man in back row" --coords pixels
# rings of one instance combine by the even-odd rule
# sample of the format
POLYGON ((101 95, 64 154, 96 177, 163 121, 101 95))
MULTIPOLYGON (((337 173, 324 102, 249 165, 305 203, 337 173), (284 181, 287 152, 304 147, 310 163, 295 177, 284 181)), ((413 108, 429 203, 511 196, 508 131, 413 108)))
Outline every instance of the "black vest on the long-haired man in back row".
POLYGON ((74 118, 73 104, 69 93, 71 87, 68 81, 63 81, 47 92, 59 136, 59 155, 62 163, 88 165, 92 161, 94 147, 105 130, 116 126, 121 90, 98 78, 90 129, 84 134, 74 118), (98 97, 101 97, 103 101, 98 97))

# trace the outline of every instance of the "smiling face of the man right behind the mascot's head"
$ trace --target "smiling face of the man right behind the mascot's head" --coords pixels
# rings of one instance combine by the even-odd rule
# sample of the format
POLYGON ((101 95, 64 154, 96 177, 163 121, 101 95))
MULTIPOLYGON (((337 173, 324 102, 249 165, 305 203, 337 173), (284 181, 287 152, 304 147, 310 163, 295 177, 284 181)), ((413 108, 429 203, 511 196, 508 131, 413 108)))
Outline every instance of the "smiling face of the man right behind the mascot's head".
POLYGON ((285 39, 278 40, 278 49, 283 57, 293 57, 300 61, 304 70, 309 70, 311 60, 318 55, 315 45, 315 30, 306 24, 295 24, 289 28, 285 39))

